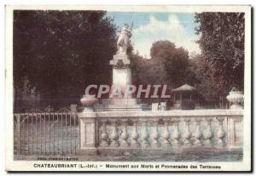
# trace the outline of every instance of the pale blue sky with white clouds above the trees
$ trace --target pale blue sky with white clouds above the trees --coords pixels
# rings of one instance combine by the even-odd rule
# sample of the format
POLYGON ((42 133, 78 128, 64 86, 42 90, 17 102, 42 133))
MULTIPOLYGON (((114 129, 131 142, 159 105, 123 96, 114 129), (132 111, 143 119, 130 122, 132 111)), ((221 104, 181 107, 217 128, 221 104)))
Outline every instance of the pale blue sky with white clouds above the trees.
MULTIPOLYGON (((169 40, 177 47, 183 47, 189 54, 200 54, 195 43, 199 36, 195 34, 195 14, 189 13, 137 13, 108 12, 116 26, 121 27, 133 22, 131 43, 140 55, 150 58, 152 44, 159 40, 169 40)), ((119 34, 118 34, 119 35, 119 34)))

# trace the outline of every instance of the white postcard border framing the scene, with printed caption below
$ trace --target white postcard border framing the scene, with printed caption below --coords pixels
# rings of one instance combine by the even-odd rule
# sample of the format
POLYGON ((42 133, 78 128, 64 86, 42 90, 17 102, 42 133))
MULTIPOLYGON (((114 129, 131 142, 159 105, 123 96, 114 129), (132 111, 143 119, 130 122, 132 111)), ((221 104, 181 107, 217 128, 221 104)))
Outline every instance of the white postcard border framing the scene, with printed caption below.
POLYGON ((249 171, 251 169, 251 7, 250 6, 6 6, 6 35, 5 35, 5 169, 8 171, 249 171), (243 118, 243 160, 242 162, 148 162, 148 164, 158 165, 161 163, 168 163, 168 165, 210 165, 221 166, 221 169, 124 169, 113 168, 107 169, 105 167, 98 169, 84 169, 84 168, 37 168, 33 167, 37 163, 50 164, 141 164, 145 162, 53 162, 53 161, 14 161, 14 147, 13 147, 13 10, 15 9, 67 9, 67 10, 108 10, 108 11, 134 11, 134 12, 244 12, 245 13, 245 87, 244 87, 244 118, 243 118))

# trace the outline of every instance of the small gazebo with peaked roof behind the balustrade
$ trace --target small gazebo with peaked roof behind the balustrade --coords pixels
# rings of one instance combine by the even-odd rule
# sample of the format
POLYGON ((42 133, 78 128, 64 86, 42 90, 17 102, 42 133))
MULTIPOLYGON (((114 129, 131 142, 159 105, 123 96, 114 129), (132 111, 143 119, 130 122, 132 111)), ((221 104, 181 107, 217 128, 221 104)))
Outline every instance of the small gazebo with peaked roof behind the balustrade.
POLYGON ((183 99, 189 99, 190 101, 195 98, 197 91, 194 87, 185 83, 183 86, 172 89, 174 108, 181 109, 183 99))

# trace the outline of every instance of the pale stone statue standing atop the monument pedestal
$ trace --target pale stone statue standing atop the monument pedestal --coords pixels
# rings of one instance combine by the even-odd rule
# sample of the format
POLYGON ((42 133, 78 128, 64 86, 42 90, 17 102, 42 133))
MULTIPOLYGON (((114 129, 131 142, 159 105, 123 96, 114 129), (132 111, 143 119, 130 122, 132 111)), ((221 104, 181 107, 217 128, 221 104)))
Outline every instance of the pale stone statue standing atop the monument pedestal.
POLYGON ((117 54, 126 54, 129 45, 129 39, 131 38, 132 24, 131 27, 125 24, 117 42, 117 54))

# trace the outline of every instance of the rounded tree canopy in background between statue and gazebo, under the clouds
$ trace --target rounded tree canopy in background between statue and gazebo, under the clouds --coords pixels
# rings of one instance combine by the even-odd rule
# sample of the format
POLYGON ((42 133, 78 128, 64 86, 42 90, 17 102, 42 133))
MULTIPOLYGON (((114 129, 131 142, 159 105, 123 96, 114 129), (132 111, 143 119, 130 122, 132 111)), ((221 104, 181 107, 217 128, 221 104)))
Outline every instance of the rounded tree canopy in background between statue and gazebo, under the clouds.
POLYGON ((151 84, 169 84, 177 88, 184 83, 194 85, 195 73, 190 70, 189 52, 177 48, 170 41, 158 41, 150 49, 151 59, 143 60, 137 54, 134 56, 134 79, 137 82, 151 84))

